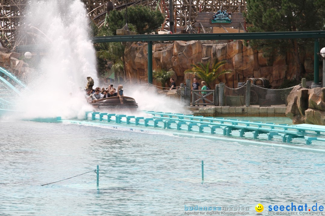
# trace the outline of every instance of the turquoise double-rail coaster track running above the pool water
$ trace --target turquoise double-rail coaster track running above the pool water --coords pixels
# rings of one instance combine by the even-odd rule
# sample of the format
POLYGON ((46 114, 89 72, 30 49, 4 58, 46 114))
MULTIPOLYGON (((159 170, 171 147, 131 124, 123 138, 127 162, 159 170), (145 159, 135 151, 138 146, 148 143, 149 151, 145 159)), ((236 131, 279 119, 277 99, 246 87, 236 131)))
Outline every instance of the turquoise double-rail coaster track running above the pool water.
POLYGON ((91 113, 91 120, 93 121, 107 121, 116 124, 142 125, 145 127, 210 134, 215 134, 216 130, 220 129, 225 136, 231 136, 232 131, 239 131, 240 138, 243 138, 245 133, 252 132, 253 139, 258 139, 259 134, 266 134, 269 141, 278 136, 282 139, 282 142, 290 143, 293 139, 303 139, 307 145, 312 144, 313 141, 325 141, 325 127, 322 129, 154 111, 145 112, 152 114, 152 118, 100 112, 86 112, 86 115, 89 113, 91 113))

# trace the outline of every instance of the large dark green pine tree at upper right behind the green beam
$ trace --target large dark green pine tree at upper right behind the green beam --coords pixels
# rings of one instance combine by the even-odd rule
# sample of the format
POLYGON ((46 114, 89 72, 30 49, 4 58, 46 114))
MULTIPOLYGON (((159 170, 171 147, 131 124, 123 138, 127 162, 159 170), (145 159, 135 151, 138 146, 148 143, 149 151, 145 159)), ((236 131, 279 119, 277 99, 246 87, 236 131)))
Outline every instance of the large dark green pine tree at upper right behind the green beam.
MULTIPOLYGON (((323 30, 325 0, 247 0, 246 21, 253 24, 250 32, 323 30)), ((303 63, 299 53, 313 45, 313 39, 250 40, 249 45, 262 50, 264 56, 274 59, 279 54, 293 51, 300 80, 303 63)))

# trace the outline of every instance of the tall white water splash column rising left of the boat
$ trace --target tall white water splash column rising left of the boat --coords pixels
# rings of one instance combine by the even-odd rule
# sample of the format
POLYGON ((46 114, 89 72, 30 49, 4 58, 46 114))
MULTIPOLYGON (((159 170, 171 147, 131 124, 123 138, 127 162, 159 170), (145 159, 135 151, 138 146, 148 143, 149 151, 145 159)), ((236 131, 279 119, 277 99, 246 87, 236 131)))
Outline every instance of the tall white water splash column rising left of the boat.
MULTIPOLYGON (((87 76, 95 84, 98 81, 85 15, 79 0, 35 0, 29 6, 24 21, 42 31, 47 44, 37 73, 31 75, 28 89, 19 98, 17 107, 24 117, 83 117, 85 110, 92 109, 79 90, 85 88, 87 76)), ((36 43, 43 43, 44 38, 36 43)))

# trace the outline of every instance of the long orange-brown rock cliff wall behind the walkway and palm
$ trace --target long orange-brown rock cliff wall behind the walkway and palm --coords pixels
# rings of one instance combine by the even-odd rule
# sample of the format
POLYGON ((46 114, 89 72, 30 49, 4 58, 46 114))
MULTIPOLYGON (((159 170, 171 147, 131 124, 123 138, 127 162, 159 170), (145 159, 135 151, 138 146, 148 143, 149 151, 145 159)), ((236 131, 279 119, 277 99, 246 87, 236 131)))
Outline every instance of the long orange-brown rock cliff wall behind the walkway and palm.
MULTIPOLYGON (((124 60, 128 79, 131 83, 148 81, 147 43, 131 44, 125 49, 124 60)), ((175 41, 174 43, 162 43, 153 45, 153 70, 162 68, 174 70, 176 73, 176 84, 184 83, 192 75, 185 74, 186 69, 191 68, 190 64, 197 62, 214 62, 215 59, 227 60, 226 68, 232 69, 232 74, 225 74, 219 77, 220 82, 237 87, 237 74, 240 74, 240 82, 251 77, 265 77, 270 81, 272 87, 278 87, 284 79, 296 77, 297 68, 294 65, 291 53, 286 56, 277 57, 271 65, 263 57, 263 53, 243 45, 241 40, 230 43, 204 43, 202 41, 175 41)), ((313 72, 313 56, 302 54, 301 62, 304 64, 305 72, 313 72)), ((215 84, 219 83, 216 80, 215 84)))

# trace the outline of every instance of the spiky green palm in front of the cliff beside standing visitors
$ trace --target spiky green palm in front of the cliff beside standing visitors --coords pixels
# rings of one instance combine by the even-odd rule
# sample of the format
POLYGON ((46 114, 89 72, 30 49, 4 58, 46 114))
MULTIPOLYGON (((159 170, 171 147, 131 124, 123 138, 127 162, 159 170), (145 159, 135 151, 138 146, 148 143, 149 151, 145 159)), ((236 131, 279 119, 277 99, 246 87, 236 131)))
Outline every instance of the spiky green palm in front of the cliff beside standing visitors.
POLYGON ((197 76, 198 78, 200 78, 201 80, 204 80, 206 85, 211 88, 211 84, 212 82, 217 79, 220 75, 222 74, 230 74, 232 72, 232 70, 227 70, 227 69, 223 69, 221 72, 218 72, 218 69, 225 65, 227 63, 226 60, 223 61, 215 61, 214 64, 212 65, 212 69, 210 71, 209 69, 209 65, 210 62, 208 62, 207 64, 203 64, 201 62, 198 62, 196 64, 191 64, 191 66, 193 67, 192 69, 187 69, 186 71, 184 71, 184 74, 190 73, 190 74, 194 74, 195 76, 197 76))

